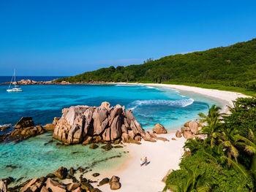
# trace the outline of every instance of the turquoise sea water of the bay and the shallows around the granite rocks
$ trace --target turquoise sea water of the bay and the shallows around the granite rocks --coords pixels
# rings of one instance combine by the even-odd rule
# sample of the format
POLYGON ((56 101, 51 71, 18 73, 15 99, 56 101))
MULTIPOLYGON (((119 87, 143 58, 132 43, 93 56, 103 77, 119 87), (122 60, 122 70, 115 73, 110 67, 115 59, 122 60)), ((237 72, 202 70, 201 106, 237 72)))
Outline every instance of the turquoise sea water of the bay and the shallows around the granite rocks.
MULTIPOLYGON (((22 93, 7 93, 7 85, 0 85, 0 125, 14 125, 22 116, 31 116, 36 124, 51 123, 61 116, 61 109, 75 105, 99 106, 102 101, 124 105, 134 112, 145 129, 162 123, 167 129, 179 128, 198 112, 207 112, 207 105, 218 101, 194 93, 144 85, 23 85, 22 93)), ((45 145, 51 134, 43 134, 18 144, 0 144, 0 178, 38 177, 53 172, 59 166, 90 166, 94 161, 121 154, 121 158, 102 161, 96 169, 118 166, 127 157, 124 149, 105 152, 88 146, 45 145), (72 153, 78 152, 78 153, 72 153), (16 169, 6 168, 17 166, 16 169)))

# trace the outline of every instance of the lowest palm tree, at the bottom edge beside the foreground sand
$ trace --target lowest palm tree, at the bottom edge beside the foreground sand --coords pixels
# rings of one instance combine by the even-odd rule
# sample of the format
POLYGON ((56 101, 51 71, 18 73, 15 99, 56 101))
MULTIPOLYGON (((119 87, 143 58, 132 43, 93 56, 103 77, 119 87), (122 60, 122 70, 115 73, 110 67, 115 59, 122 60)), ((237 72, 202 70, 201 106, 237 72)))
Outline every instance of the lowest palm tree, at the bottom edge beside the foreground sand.
MULTIPOLYGON (((198 167, 197 167, 198 168, 198 167)), ((167 188, 170 188, 173 192, 208 192, 211 190, 211 183, 205 177, 205 174, 198 174, 197 168, 195 170, 188 169, 187 171, 187 180, 184 180, 183 183, 165 185, 163 191, 167 191, 167 188)))

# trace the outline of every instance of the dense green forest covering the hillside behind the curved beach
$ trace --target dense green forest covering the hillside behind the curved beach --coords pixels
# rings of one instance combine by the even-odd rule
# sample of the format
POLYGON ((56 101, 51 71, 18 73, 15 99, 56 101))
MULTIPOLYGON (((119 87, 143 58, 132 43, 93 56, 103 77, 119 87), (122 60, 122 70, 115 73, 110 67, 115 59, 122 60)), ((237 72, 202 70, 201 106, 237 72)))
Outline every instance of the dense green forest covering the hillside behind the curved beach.
POLYGON ((204 83, 256 90, 256 39, 144 64, 110 66, 57 80, 68 82, 204 83))

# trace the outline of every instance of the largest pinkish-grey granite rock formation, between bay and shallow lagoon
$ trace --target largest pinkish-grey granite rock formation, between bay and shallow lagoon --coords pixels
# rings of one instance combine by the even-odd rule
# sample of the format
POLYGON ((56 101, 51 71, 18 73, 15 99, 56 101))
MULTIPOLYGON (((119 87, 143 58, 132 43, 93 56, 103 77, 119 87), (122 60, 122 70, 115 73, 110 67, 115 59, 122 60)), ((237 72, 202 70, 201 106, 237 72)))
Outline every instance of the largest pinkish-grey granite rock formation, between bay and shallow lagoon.
POLYGON ((146 132, 131 110, 117 104, 110 107, 103 102, 100 107, 75 106, 62 110, 56 120, 53 138, 66 145, 91 142, 132 142, 146 138, 146 132))

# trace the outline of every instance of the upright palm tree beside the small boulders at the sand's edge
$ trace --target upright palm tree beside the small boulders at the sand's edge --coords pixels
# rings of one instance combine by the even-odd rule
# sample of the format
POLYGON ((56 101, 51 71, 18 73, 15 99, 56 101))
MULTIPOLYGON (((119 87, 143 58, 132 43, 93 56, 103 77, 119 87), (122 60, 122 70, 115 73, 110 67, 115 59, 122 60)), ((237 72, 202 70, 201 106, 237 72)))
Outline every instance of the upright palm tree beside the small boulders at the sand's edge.
POLYGON ((200 112, 198 115, 200 116, 200 123, 206 123, 205 126, 200 130, 200 133, 207 134, 208 139, 210 139, 211 147, 214 147, 214 144, 217 140, 217 137, 220 135, 220 119, 222 117, 222 113, 219 113, 220 107, 216 107, 216 105, 212 105, 211 108, 208 106, 208 115, 200 112))

